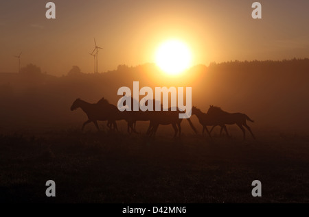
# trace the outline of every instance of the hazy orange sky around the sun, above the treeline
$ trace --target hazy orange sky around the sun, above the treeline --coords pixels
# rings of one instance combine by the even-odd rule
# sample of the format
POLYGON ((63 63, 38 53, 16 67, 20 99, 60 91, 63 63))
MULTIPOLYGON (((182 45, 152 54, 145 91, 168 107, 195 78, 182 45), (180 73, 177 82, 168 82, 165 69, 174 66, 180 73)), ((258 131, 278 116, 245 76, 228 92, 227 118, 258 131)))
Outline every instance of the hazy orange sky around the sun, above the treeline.
POLYGON ((56 0, 56 19, 45 18, 42 0, 0 2, 0 72, 33 63, 52 75, 78 65, 93 72, 93 38, 104 47, 99 72, 119 64, 154 62, 160 42, 178 38, 193 52, 193 64, 229 60, 309 57, 309 1, 56 0))

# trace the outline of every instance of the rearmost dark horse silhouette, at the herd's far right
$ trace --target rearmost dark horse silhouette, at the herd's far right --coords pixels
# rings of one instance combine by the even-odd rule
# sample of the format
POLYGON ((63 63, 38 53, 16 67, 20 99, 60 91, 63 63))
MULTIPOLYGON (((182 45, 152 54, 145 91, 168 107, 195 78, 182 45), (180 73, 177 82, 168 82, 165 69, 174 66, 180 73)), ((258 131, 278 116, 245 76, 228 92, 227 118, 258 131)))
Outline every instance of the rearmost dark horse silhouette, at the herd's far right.
MULTIPOLYGON (((238 127, 242 130, 242 133, 244 134, 245 139, 245 130, 244 127, 246 127, 249 132, 251 133, 251 136, 255 139, 255 136, 253 135, 251 128, 247 125, 247 121, 249 120, 251 122, 254 122, 254 120, 251 120, 247 114, 242 113, 229 113, 221 110, 220 107, 216 107, 214 105, 210 105, 207 114, 214 116, 220 125, 238 125, 238 127), (242 127, 244 126, 244 127, 242 127)), ((211 128, 211 131, 214 129, 214 127, 211 128)))

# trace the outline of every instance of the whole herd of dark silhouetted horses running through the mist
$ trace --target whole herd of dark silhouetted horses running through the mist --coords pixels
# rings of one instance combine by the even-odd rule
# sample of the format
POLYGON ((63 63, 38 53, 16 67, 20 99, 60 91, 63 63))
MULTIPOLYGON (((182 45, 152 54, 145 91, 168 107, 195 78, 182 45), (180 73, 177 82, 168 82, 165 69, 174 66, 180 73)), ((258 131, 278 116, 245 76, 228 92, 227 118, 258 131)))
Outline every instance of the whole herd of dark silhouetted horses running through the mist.
MULTIPOLYGON (((133 99, 132 99, 133 101, 133 99)), ((155 105, 155 101, 153 103, 155 105)), ((108 101, 104 98, 100 99, 98 103, 88 103, 83 101, 82 99, 76 99, 71 105, 71 111, 77 110, 81 108, 87 116, 88 120, 84 122, 82 125, 82 130, 84 129, 85 125, 88 123, 93 123, 95 127, 100 131, 98 121, 107 120, 107 127, 111 130, 118 130, 117 129, 117 120, 126 120, 128 123, 127 131, 128 133, 137 133, 135 127, 137 121, 150 121, 148 130, 146 135, 148 136, 155 136, 159 125, 172 125, 174 129, 174 137, 181 136, 181 121, 183 119, 179 118, 180 110, 176 108, 176 111, 168 110, 168 111, 123 111, 120 112, 117 106, 108 103, 108 101)), ((238 125, 243 133, 243 138, 245 138, 245 129, 246 127, 248 131, 251 133, 251 136, 255 139, 251 128, 247 125, 247 120, 253 122, 249 116, 242 113, 229 113, 221 110, 220 107, 216 107, 214 105, 210 105, 209 110, 207 113, 202 112, 197 107, 192 107, 192 115, 196 115, 198 118, 199 123, 203 126, 203 134, 205 130, 207 131, 209 137, 211 137, 211 131, 213 131, 214 127, 220 126, 220 136, 222 131, 225 130, 227 136, 229 133, 227 131, 226 125, 238 125), (211 127, 209 131, 207 127, 211 127)), ((190 126, 192 127, 193 131, 197 133, 196 128, 192 124, 190 118, 186 119, 190 126)))

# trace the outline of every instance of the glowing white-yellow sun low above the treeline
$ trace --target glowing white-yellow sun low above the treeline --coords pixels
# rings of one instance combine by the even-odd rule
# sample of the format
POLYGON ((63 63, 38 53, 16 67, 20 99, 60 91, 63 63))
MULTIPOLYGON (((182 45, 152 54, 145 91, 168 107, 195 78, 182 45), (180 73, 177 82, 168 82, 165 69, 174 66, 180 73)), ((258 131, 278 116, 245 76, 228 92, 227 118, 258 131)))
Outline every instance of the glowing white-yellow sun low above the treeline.
POLYGON ((179 75, 189 68, 192 53, 181 40, 167 40, 159 45, 155 63, 168 75, 179 75))

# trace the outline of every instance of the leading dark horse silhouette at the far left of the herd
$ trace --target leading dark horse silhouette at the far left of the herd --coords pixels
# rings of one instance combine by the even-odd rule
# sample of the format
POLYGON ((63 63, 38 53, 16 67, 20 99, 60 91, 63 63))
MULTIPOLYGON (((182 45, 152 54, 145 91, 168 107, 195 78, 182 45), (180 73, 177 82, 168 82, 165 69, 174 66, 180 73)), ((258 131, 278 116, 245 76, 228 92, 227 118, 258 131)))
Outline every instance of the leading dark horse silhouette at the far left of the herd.
MULTIPOLYGON (((115 105, 114 105, 115 106, 115 105)), ((71 111, 81 108, 87 114, 88 120, 82 125, 82 131, 84 130, 85 125, 93 123, 95 127, 100 131, 98 120, 108 120, 108 126, 111 129, 111 125, 114 125, 114 128, 117 129, 115 118, 111 116, 111 111, 116 112, 108 101, 99 101, 98 103, 88 103, 82 99, 76 99, 71 105, 71 111)), ((115 107, 117 109, 117 107, 115 107)))

